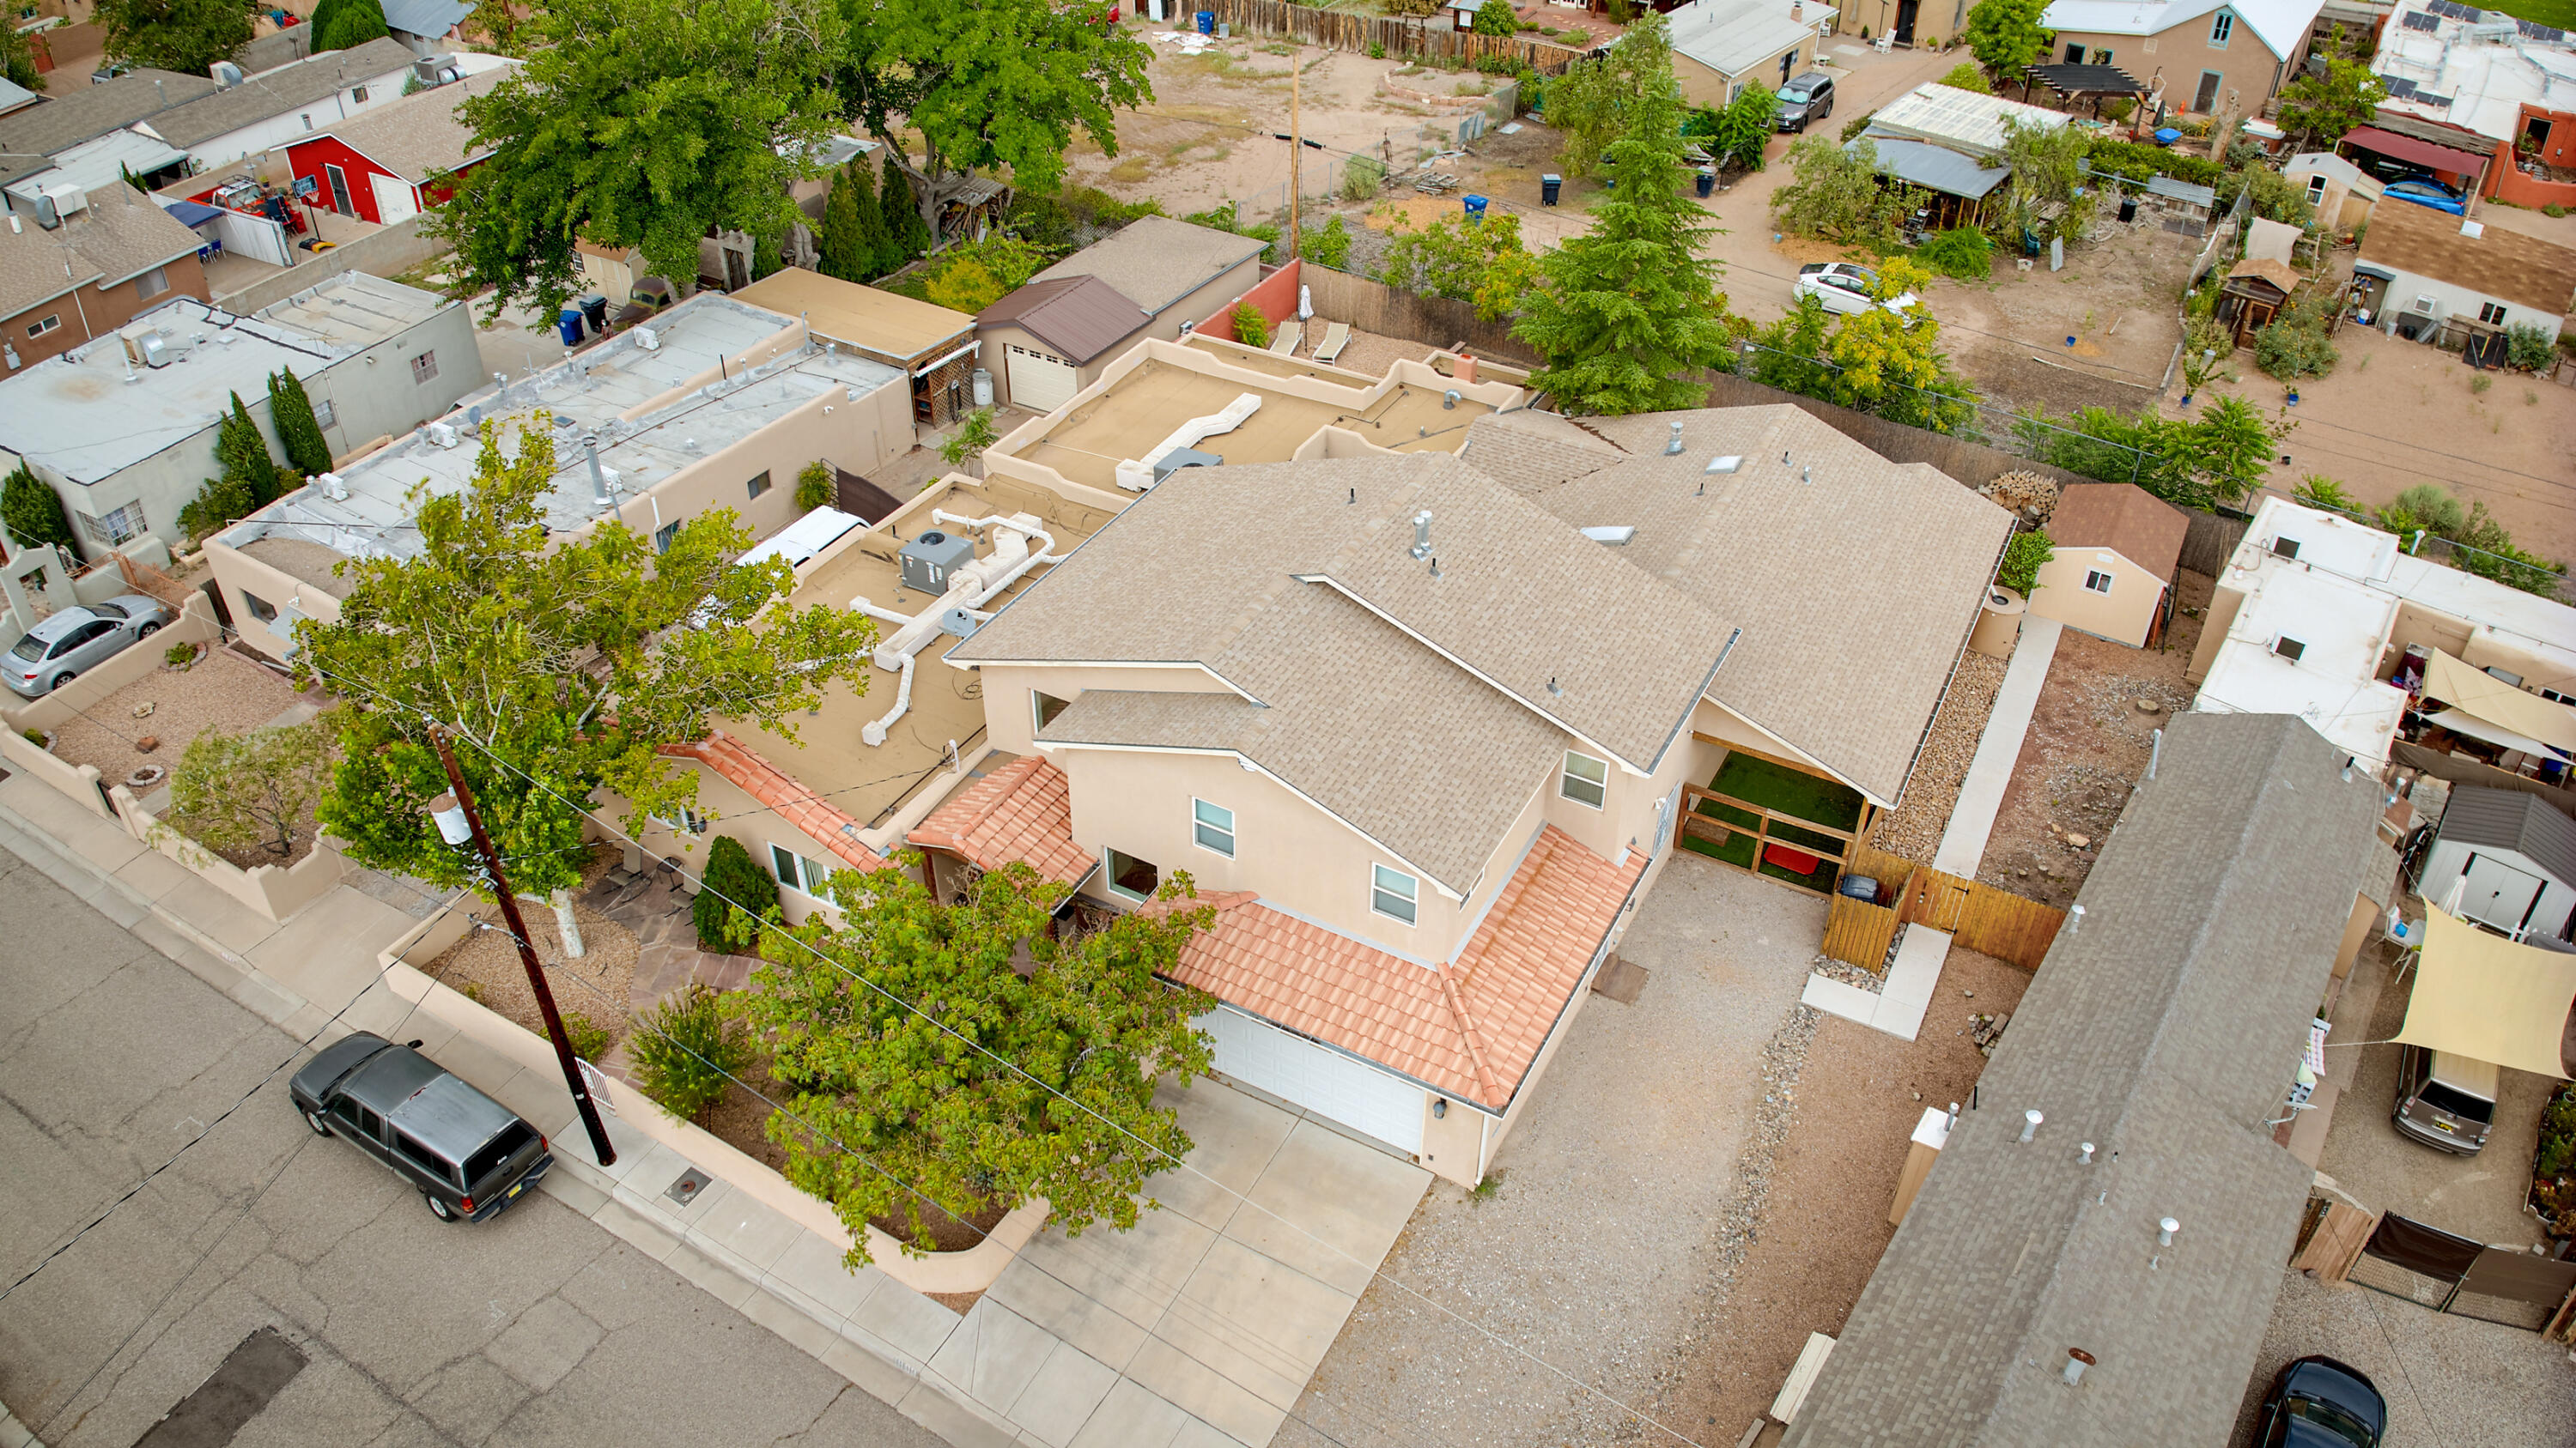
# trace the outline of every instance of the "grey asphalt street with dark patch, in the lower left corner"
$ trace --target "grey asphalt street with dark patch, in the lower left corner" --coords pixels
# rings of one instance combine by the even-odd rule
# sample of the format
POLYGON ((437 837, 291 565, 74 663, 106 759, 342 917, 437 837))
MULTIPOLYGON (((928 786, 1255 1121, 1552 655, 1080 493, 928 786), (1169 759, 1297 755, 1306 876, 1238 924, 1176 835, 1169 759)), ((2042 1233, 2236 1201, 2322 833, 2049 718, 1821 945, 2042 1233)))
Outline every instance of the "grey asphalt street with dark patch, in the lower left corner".
POLYGON ((435 1221, 304 1129, 304 1056, 0 850, 0 1402, 44 1443, 938 1443, 551 1196, 435 1221))

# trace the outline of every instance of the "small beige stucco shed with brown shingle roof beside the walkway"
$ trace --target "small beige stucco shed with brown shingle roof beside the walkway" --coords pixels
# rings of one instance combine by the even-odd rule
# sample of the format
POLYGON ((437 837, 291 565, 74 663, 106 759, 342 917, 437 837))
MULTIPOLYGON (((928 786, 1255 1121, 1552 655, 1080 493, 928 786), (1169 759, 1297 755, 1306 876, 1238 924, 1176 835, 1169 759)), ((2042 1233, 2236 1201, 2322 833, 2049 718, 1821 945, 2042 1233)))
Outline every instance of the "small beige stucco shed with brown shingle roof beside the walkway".
POLYGON ((2143 649, 2172 616, 2190 518, 2128 482, 2071 482, 2048 515, 2056 557, 2040 564, 2030 613, 2143 649))

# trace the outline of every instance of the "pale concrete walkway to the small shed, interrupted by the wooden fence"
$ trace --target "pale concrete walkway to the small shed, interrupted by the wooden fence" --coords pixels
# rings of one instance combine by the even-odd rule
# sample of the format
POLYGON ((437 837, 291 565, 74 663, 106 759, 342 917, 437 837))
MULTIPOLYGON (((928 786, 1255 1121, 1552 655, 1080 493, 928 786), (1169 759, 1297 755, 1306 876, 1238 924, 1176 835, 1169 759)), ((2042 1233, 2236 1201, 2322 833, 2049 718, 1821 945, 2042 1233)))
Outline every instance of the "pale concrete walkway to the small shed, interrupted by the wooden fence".
MULTIPOLYGON (((2056 618, 2022 618, 2022 642, 2012 649, 2004 683, 1994 693, 1994 714, 1976 739, 1968 760, 1968 778, 1958 786, 1958 804, 1942 830, 1932 868, 1960 879, 1976 879, 1978 861, 1986 858, 1986 840, 1994 835, 1994 817, 2004 809, 2004 788, 2012 783, 2012 765, 2022 757, 2022 737, 2030 734, 2030 716, 2040 709, 2040 685, 2048 665, 2058 657, 2063 624, 2056 618)), ((1896 946, 1896 964, 1880 989, 1860 989, 1829 976, 1806 979, 1806 1005, 1857 1020, 1873 1031, 1906 1041, 1922 1031, 1924 1010, 1932 1007, 1932 989, 1940 969, 1950 958, 1950 933, 1929 925, 1906 925, 1896 946)))

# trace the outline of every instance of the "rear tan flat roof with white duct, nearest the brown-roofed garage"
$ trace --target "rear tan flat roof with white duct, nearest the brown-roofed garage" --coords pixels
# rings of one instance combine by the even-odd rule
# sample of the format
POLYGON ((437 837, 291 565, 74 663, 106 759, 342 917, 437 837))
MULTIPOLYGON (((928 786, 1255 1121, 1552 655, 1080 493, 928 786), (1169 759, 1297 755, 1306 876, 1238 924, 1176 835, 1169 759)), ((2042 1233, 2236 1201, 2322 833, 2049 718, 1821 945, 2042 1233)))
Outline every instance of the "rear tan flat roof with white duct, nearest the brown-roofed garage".
MULTIPOLYGON (((1224 361, 1231 363, 1234 358, 1224 361)), ((1309 386, 1345 392, 1327 379, 1314 379, 1309 386)), ((1097 397, 1077 402, 1072 412, 1056 417, 1041 435, 1015 446, 1010 456, 1051 466, 1066 482, 1115 492, 1121 461, 1144 459, 1146 451, 1182 423, 1221 412, 1244 394, 1260 397, 1260 410, 1231 433, 1206 438, 1198 443, 1198 451, 1216 453, 1236 466, 1283 464, 1296 459, 1298 446, 1314 438, 1316 430, 1347 428, 1399 453, 1455 453, 1466 443, 1466 425, 1494 412, 1494 407, 1468 397, 1461 397, 1455 407, 1445 407, 1443 392, 1399 381, 1378 399, 1370 399, 1360 386, 1350 386, 1347 397, 1314 399, 1265 386, 1262 379, 1247 374, 1193 371, 1162 356, 1149 356, 1133 371, 1110 381, 1097 397)))

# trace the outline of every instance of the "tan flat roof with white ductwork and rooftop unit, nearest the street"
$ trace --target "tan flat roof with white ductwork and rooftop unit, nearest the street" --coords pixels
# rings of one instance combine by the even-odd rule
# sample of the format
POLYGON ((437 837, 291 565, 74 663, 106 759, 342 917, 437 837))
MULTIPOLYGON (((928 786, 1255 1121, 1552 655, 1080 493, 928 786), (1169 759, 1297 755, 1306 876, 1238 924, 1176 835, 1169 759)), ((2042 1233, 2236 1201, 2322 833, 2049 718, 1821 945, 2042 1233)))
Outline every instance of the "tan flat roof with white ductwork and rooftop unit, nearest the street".
MULTIPOLYGON (((842 533, 814 562, 799 567, 793 605, 848 608, 853 598, 866 598, 896 613, 927 608, 927 595, 904 590, 896 549, 930 528, 935 508, 971 518, 1030 513, 1054 536, 1051 551, 1059 557, 1115 518, 1108 508, 1066 502, 1036 484, 951 474, 925 487, 884 523, 842 533)), ((976 544, 976 554, 987 551, 992 551, 989 538, 976 544)), ((1030 569, 984 608, 1002 608, 1048 572, 1048 567, 1030 569)), ((891 634, 891 624, 884 631, 891 634)), ((832 683, 822 706, 799 721, 796 739, 742 719, 716 719, 716 727, 860 824, 876 824, 920 786, 925 773, 945 765, 951 739, 971 755, 974 737, 984 729, 984 675, 940 662, 943 652, 940 644, 922 649, 912 672, 912 709, 878 747, 863 745, 858 732, 894 709, 899 675, 876 665, 868 665, 863 696, 853 693, 848 683, 832 683)))

